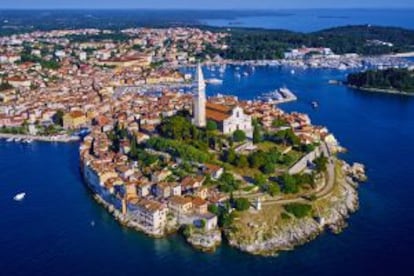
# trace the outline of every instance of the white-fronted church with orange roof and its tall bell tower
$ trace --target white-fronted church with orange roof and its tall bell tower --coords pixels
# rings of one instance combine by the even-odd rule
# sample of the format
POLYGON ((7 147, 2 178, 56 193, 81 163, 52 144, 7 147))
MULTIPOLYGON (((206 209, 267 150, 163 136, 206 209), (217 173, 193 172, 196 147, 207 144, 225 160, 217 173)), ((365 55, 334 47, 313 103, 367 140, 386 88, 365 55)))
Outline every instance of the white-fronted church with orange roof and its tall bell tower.
POLYGON ((206 85, 201 66, 197 68, 197 91, 193 97, 193 124, 197 127, 205 127, 207 121, 216 122, 218 129, 223 134, 232 134, 236 130, 242 130, 247 137, 253 136, 252 117, 244 113, 240 106, 226 106, 209 103, 206 100, 206 85))

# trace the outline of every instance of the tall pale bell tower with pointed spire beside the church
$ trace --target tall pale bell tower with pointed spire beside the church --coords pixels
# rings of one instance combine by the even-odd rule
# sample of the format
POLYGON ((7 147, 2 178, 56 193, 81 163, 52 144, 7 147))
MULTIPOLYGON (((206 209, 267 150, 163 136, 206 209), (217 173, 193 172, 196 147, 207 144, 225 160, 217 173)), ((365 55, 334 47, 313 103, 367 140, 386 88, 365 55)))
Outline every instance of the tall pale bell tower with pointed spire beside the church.
POLYGON ((203 70, 198 64, 196 73, 197 90, 193 97, 193 124, 197 127, 206 126, 206 83, 203 70))

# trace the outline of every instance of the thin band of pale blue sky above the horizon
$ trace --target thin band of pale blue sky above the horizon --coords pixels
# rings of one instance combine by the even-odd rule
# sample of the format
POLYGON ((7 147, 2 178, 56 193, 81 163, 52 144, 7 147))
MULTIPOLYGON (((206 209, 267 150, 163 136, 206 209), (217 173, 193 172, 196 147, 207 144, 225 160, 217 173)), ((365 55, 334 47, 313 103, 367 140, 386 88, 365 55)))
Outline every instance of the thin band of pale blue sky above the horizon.
POLYGON ((0 0, 0 9, 414 8, 413 0, 0 0))

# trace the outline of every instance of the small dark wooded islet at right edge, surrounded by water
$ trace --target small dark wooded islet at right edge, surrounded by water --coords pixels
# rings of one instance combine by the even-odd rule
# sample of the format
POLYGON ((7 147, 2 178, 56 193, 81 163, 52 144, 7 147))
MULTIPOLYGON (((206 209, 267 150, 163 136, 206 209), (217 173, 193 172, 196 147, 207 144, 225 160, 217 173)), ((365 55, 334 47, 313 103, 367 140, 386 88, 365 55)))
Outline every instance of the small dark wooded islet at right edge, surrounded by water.
POLYGON ((368 70, 349 74, 347 84, 362 90, 414 96, 414 71, 406 68, 368 70))

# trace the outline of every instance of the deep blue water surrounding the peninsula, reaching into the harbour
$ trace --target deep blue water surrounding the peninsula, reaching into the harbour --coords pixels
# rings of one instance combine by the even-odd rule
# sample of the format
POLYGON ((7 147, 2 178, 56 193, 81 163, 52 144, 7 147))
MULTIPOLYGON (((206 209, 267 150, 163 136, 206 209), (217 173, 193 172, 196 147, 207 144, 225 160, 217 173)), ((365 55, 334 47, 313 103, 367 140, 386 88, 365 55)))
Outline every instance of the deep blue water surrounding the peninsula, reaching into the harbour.
MULTIPOLYGON (((243 69, 242 69, 243 70, 243 69)), ((309 113, 367 165, 360 210, 340 235, 323 234, 275 258, 222 246, 203 254, 180 237, 154 240, 119 226, 84 187, 77 144, 0 142, 1 275, 413 275, 414 98, 332 86, 337 71, 257 68, 223 86, 252 98, 286 85, 299 100, 285 110, 309 113), (313 110, 309 102, 318 100, 313 110), (13 196, 25 191, 22 202, 13 196), (94 221, 94 226, 91 222, 94 221)))

